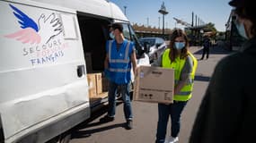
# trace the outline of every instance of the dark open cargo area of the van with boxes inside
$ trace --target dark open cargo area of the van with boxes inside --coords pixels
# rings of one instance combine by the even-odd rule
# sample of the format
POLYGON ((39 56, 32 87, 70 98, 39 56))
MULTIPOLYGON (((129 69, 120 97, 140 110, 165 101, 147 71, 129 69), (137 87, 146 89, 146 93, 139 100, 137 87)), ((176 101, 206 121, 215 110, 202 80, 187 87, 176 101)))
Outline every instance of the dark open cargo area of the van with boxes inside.
POLYGON ((110 21, 78 13, 78 22, 84 46, 90 106, 93 108, 106 102, 108 97, 108 80, 103 76, 102 71, 104 71, 105 43, 110 21))

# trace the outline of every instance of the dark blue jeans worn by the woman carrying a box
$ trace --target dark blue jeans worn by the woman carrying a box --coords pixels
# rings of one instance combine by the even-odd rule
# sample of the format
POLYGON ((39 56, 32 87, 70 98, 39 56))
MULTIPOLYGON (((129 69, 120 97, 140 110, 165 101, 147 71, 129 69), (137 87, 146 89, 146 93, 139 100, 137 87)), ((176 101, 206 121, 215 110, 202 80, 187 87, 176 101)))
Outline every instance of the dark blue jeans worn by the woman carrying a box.
POLYGON ((158 104, 158 122, 155 143, 163 143, 166 135, 166 128, 171 115, 172 137, 178 137, 181 128, 181 113, 187 105, 187 101, 174 101, 171 105, 158 104))

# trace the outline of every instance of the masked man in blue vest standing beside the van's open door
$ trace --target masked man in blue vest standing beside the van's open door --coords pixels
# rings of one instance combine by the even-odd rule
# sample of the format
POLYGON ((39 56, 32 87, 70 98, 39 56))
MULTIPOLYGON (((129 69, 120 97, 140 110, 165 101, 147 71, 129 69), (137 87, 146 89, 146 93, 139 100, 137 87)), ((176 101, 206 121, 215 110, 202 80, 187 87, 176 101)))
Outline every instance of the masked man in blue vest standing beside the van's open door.
POLYGON ((110 27, 110 38, 106 44, 106 58, 104 62, 105 75, 110 80, 109 85, 109 111, 101 122, 112 122, 116 111, 117 88, 124 101, 124 113, 127 121, 126 128, 132 129, 132 109, 129 95, 129 83, 131 81, 131 69, 135 73, 136 51, 135 46, 128 39, 124 38, 123 26, 120 23, 113 23, 110 27), (133 66, 133 67, 131 67, 133 66))

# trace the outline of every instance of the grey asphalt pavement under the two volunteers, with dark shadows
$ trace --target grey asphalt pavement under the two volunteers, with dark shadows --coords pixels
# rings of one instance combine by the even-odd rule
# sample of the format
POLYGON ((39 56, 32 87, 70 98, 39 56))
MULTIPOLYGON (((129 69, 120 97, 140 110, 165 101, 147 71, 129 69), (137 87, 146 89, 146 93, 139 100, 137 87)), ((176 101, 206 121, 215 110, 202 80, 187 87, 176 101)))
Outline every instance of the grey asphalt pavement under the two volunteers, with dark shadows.
MULTIPOLYGON (((198 59, 201 57, 200 46, 190 46, 190 51, 198 59)), ((208 81, 214 71, 216 63, 230 52, 223 47, 210 48, 207 60, 199 60, 196 72, 193 97, 186 105, 181 115, 181 132, 179 143, 187 143, 190 138, 190 130, 199 109, 202 97, 207 89, 208 81)), ((71 143, 154 143, 157 126, 157 104, 139 101, 132 102, 134 114, 133 129, 125 129, 123 104, 118 101, 116 118, 113 122, 99 122, 106 114, 107 106, 93 114, 93 117, 79 124, 72 133, 71 143)), ((171 123, 167 127, 167 136, 171 134, 171 123)))

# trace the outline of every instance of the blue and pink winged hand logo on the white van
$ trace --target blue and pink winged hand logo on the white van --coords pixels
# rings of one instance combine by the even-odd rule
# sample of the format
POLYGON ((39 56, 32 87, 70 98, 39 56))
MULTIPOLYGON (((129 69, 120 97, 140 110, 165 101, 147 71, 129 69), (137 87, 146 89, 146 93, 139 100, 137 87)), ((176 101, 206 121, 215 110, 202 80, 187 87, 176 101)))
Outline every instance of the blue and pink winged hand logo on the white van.
POLYGON ((23 13, 13 4, 9 4, 13 9, 13 14, 21 25, 21 29, 12 34, 5 35, 5 38, 14 38, 23 44, 47 44, 51 38, 56 37, 62 32, 61 21, 56 13, 49 16, 42 13, 38 23, 33 21, 27 14, 23 13))

